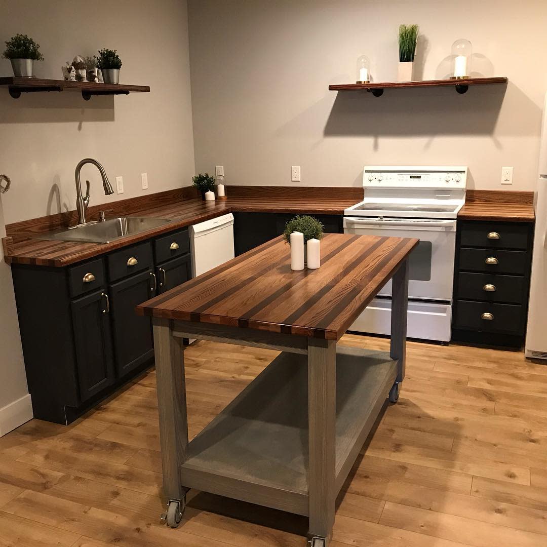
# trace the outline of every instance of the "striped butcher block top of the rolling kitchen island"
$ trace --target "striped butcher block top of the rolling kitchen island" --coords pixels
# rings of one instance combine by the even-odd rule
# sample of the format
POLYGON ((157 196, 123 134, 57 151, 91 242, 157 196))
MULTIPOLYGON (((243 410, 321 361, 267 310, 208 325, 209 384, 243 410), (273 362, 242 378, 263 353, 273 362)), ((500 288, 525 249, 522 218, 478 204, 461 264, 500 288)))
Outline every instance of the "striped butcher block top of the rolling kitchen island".
POLYGON ((325 234, 321 267, 292 271, 282 236, 137 306, 139 315, 339 340, 415 238, 325 234))

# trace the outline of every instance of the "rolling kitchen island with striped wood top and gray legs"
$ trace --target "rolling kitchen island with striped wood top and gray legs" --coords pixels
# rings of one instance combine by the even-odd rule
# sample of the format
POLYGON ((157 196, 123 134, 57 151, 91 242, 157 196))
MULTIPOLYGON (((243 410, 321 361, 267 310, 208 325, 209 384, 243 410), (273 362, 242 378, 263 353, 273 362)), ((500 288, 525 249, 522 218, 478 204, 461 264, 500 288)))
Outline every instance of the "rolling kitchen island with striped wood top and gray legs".
POLYGON ((328 545, 335 500, 404 378, 408 257, 418 240, 327 234, 318 270, 290 270, 281 237, 137 307, 154 323, 166 520, 197 488, 309 517, 328 545), (391 351, 337 348, 393 279, 391 351), (183 339, 280 355, 188 440, 183 339))

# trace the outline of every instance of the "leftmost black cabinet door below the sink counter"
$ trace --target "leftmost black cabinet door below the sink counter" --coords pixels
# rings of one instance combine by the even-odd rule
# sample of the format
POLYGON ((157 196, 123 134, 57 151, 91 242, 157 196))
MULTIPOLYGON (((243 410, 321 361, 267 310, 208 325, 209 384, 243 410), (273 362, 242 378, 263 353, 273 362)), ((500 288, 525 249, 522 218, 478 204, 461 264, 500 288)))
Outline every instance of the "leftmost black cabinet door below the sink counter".
POLYGON ((114 381, 107 296, 102 290, 71 302, 80 399, 85 401, 114 381))

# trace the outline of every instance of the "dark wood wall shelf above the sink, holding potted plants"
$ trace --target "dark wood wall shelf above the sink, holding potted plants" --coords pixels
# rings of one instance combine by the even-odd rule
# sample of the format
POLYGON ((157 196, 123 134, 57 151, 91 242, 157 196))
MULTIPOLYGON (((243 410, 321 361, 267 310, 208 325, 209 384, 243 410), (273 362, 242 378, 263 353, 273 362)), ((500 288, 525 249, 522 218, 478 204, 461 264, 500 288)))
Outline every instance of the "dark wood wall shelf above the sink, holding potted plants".
POLYGON ((72 82, 67 80, 46 80, 42 78, 21 78, 10 76, 0 78, 0 86, 7 86, 9 94, 18 99, 21 93, 44 91, 81 91, 85 101, 92 95, 129 95, 132 92, 150 91, 147 85, 95 84, 93 82, 72 82))

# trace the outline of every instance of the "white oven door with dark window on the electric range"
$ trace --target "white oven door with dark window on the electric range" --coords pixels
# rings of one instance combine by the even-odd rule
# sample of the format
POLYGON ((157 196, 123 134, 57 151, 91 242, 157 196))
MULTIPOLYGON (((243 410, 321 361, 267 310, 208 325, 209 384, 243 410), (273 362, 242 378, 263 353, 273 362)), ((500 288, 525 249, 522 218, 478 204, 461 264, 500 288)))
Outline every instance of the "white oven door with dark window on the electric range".
MULTIPOLYGON (((409 257, 409 298, 452 300, 456 220, 345 217, 344 233, 418 238, 409 257)), ((391 281, 379 295, 391 296, 391 281)))

